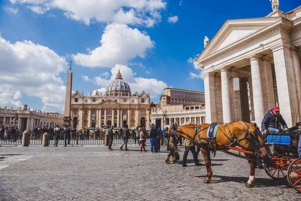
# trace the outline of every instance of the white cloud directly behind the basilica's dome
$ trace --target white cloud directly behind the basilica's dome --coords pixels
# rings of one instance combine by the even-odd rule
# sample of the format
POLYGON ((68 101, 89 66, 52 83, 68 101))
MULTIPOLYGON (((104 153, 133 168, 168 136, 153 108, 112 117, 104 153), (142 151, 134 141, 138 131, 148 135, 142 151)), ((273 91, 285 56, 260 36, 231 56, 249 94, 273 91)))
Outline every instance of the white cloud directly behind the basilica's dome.
MULTIPOLYGON (((135 91, 142 91, 144 90, 146 93, 150 93, 150 97, 155 98, 158 95, 161 95, 164 92, 164 88, 167 88, 168 85, 164 81, 157 80, 155 78, 143 78, 143 77, 136 77, 136 73, 132 71, 126 65, 115 65, 111 69, 111 77, 106 79, 101 76, 95 76, 94 78, 89 78, 93 83, 101 86, 102 88, 96 89, 99 92, 105 92, 106 87, 108 84, 115 79, 118 70, 120 69, 120 73, 122 74, 122 78, 126 81, 131 89, 131 92, 134 93, 135 91)), ((93 91, 93 93, 96 92, 93 91)))

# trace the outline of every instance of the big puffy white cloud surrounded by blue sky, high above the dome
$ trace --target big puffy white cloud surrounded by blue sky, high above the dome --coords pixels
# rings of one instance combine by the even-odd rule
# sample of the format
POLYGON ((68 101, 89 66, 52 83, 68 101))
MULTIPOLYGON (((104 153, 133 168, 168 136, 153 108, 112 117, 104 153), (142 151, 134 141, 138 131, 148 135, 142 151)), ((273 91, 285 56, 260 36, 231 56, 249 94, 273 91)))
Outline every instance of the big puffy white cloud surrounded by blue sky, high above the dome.
POLYGON ((126 64, 137 56, 144 58, 147 49, 154 47, 146 33, 131 29, 127 25, 107 25, 101 40, 101 46, 88 54, 73 55, 76 64, 85 67, 113 67, 115 64, 126 64))

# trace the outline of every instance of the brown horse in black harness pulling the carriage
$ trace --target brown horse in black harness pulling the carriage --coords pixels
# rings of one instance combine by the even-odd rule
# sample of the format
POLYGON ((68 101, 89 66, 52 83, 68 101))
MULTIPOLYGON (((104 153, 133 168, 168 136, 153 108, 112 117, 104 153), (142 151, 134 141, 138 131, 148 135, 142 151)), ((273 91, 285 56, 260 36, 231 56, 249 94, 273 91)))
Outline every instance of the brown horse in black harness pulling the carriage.
MULTIPOLYGON (((191 124, 178 127, 178 136, 183 136, 195 142, 198 148, 201 149, 207 169, 207 177, 204 180, 204 183, 209 183, 213 176, 210 151, 226 151, 227 146, 223 145, 230 145, 230 147, 238 146, 243 150, 255 151, 257 154, 261 155, 263 161, 268 166, 273 166, 273 161, 268 155, 268 150, 265 148, 264 141, 261 136, 257 134, 256 129, 251 124, 245 122, 233 122, 226 125, 220 125, 217 129, 216 138, 212 140, 213 143, 212 141, 207 140, 207 131, 209 126, 210 124, 202 124, 198 126, 191 124), (259 141, 260 148, 258 147, 258 149, 254 150, 254 142, 256 140, 259 141), (219 145, 217 145, 217 143, 219 145), (208 144, 212 147, 208 146, 208 144)), ((172 129, 173 125, 171 125, 169 131, 172 131, 172 129)), ((245 153, 250 166, 250 177, 246 183, 246 187, 250 187, 255 181, 254 175, 256 162, 254 155, 250 153, 245 153)))

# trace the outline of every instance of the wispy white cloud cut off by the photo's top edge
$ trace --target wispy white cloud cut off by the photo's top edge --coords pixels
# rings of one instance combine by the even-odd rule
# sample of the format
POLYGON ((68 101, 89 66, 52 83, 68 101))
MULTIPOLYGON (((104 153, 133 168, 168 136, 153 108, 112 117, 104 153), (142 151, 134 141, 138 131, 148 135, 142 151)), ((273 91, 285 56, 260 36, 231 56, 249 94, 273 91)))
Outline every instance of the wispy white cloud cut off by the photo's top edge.
POLYGON ((35 7, 35 9, 31 9, 35 13, 59 9, 67 18, 83 22, 86 25, 96 21, 148 27, 160 22, 160 11, 165 10, 167 6, 165 0, 10 0, 10 2, 35 7))

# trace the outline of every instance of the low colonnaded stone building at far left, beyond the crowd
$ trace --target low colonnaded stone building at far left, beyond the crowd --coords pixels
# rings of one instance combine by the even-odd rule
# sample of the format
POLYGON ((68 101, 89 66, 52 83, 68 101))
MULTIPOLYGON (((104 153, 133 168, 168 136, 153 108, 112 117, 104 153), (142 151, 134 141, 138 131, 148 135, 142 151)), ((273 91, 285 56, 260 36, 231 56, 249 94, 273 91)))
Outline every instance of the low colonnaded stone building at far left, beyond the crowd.
POLYGON ((55 127, 59 125, 59 127, 63 127, 63 115, 59 113, 48 113, 36 110, 30 111, 30 108, 27 108, 27 105, 24 105, 24 109, 21 110, 17 108, 17 110, 11 109, 0 109, 0 126, 16 126, 19 130, 32 130, 36 126, 44 127, 44 125, 48 125, 48 127, 55 127), (18 120, 18 123, 14 123, 14 121, 18 120))

